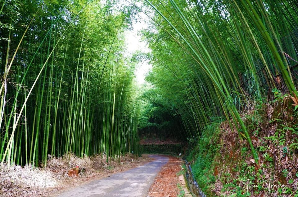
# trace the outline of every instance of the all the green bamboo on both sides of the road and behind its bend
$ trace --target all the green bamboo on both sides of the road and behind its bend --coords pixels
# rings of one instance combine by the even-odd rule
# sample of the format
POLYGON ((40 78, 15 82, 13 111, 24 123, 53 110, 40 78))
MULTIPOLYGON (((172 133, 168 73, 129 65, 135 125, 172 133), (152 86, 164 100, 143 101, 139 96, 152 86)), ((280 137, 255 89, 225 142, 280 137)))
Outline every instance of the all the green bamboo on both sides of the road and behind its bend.
POLYGON ((104 2, 1 1, 1 162, 138 154, 138 126, 193 141, 226 119, 258 163, 240 112, 276 91, 297 95, 297 1, 143 1, 154 88, 141 107, 137 62, 123 55, 138 7, 104 2))

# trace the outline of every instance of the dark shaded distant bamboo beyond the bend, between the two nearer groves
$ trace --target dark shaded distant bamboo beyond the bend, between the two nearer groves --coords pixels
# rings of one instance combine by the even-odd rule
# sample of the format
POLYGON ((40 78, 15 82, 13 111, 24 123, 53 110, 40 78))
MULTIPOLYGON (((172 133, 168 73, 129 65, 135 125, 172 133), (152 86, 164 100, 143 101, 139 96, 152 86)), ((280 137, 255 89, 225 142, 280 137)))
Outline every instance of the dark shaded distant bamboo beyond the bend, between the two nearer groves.
MULTIPOLYGON (((157 138, 183 142, 188 137, 175 106, 164 100, 159 90, 143 87, 139 105, 138 134, 142 138, 157 138)), ((166 94, 166 93, 165 93, 166 94)))

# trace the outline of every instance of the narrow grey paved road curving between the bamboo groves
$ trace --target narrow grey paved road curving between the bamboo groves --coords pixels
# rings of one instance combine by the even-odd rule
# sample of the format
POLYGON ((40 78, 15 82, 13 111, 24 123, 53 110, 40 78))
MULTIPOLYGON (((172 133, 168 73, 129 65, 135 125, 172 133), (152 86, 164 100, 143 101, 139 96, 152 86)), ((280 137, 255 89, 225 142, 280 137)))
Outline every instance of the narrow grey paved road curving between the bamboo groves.
POLYGON ((156 159, 137 168, 110 177, 102 178, 75 189, 62 193, 66 196, 97 196, 97 197, 143 197, 147 195, 148 189, 154 181, 161 167, 168 163, 169 158, 159 155, 150 155, 156 159))

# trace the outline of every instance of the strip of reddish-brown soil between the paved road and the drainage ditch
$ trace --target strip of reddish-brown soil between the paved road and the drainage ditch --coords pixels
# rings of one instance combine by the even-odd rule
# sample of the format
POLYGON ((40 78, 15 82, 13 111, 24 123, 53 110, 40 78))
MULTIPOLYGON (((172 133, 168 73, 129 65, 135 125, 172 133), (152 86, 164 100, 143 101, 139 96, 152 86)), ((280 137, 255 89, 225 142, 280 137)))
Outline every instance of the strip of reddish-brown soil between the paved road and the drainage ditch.
POLYGON ((167 157, 169 157, 169 162, 157 174, 147 197, 176 197, 179 194, 177 173, 182 170, 183 162, 177 157, 167 157))

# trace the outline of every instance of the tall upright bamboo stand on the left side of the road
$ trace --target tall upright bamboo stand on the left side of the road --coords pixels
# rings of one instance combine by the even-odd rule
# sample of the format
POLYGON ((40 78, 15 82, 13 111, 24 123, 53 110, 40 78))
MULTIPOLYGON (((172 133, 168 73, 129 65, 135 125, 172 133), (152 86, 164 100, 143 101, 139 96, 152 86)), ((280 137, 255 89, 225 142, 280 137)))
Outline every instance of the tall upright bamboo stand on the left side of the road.
POLYGON ((134 10, 106 1, 1 1, 0 161, 138 154, 134 10))

